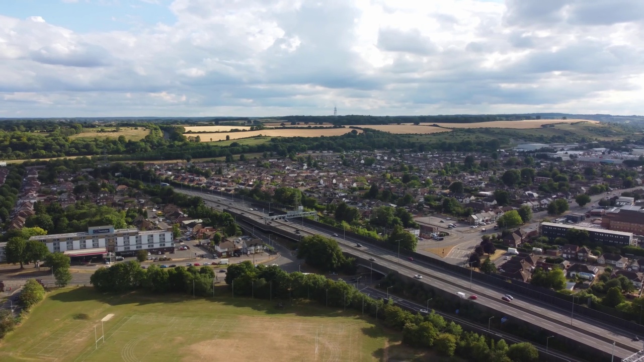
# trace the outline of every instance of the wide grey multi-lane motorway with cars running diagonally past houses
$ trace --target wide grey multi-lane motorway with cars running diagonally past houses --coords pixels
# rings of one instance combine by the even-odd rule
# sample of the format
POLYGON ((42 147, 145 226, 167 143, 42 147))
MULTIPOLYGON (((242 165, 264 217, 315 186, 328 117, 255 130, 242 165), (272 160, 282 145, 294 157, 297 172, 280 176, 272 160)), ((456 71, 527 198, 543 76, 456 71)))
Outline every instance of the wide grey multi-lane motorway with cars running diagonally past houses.
MULTIPOLYGON (((231 200, 226 197, 222 198, 221 196, 197 191, 179 189, 175 189, 175 191, 192 196, 200 196, 204 198, 207 205, 220 210, 224 208, 236 209, 240 213, 243 211, 245 216, 253 219, 258 219, 263 216, 261 211, 251 211, 251 204, 249 202, 242 203, 242 200, 239 198, 231 200)), ((298 228, 304 236, 307 234, 323 234, 334 238, 328 231, 316 229, 307 224, 302 225, 299 222, 274 220, 272 225, 289 232, 294 228, 298 228)), ((533 325, 549 330, 553 334, 571 338, 584 345, 600 348, 609 354, 613 349, 612 342, 615 341, 615 356, 620 358, 630 356, 630 354, 637 352, 639 347, 641 347, 641 343, 632 341, 633 335, 630 332, 619 330, 600 321, 586 318, 585 316, 573 317, 570 314, 570 310, 562 310, 547 303, 528 300, 522 296, 518 296, 511 303, 507 303, 500 300, 500 297, 507 294, 507 292, 493 285, 486 285, 480 282, 470 284, 470 281, 464 280, 461 275, 452 274, 435 265, 428 265, 417 261, 411 262, 406 259, 398 260, 395 255, 392 255, 392 251, 386 249, 372 245, 356 247, 355 240, 343 240, 341 237, 334 239, 345 252, 365 259, 374 258, 375 263, 378 265, 383 265, 398 271, 405 276, 413 277, 415 274, 421 274, 424 276, 422 279, 423 283, 428 283, 437 289, 453 293, 462 291, 466 292, 466 294, 476 294, 478 299, 476 301, 470 301, 471 303, 482 303, 491 309, 502 311, 506 314, 507 318, 528 321, 533 325)))

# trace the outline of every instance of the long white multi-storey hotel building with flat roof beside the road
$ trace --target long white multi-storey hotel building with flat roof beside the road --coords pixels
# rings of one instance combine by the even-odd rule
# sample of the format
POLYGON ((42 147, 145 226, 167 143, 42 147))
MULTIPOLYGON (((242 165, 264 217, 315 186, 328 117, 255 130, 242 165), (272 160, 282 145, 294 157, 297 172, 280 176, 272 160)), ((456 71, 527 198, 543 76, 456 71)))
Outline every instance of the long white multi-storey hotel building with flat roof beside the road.
POLYGON ((64 252, 69 256, 99 256, 114 252, 133 255, 138 250, 172 251, 175 249, 173 234, 165 230, 139 231, 114 229, 113 225, 91 226, 87 232, 32 236, 50 252, 64 252))

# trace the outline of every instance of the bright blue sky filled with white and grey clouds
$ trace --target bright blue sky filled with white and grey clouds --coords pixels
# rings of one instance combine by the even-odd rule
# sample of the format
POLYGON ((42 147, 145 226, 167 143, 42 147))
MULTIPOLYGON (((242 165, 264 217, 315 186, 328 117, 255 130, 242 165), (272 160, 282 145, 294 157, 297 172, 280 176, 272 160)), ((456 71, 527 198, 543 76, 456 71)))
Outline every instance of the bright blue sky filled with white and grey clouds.
POLYGON ((644 114, 641 0, 2 0, 0 117, 644 114))

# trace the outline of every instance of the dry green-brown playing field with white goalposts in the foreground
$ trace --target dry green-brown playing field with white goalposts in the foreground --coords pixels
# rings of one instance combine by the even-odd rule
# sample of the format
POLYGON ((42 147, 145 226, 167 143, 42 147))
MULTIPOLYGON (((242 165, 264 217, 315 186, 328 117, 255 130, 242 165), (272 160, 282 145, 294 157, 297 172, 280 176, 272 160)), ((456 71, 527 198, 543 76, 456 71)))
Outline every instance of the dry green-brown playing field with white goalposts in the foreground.
POLYGON ((278 308, 276 301, 231 298, 225 287, 216 294, 55 291, 2 341, 0 361, 440 361, 353 311, 298 301, 278 308), (95 329, 100 339, 102 328, 96 348, 95 329))

